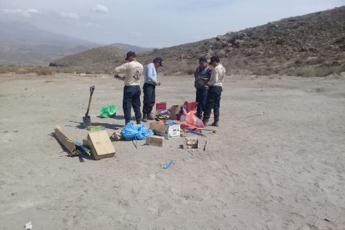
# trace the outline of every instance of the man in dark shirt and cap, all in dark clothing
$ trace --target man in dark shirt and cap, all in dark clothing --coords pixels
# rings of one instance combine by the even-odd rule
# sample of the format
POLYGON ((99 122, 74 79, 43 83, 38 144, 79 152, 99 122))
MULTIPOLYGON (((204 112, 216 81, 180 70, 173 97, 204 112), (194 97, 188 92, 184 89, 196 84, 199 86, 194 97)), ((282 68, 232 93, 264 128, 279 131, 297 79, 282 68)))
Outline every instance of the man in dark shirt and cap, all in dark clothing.
POLYGON ((199 66, 195 70, 194 86, 197 89, 196 99, 197 104, 197 117, 202 119, 203 112, 206 108, 206 99, 208 93, 208 86, 204 84, 204 81, 210 80, 212 69, 207 65, 207 59, 205 56, 199 58, 199 66))

